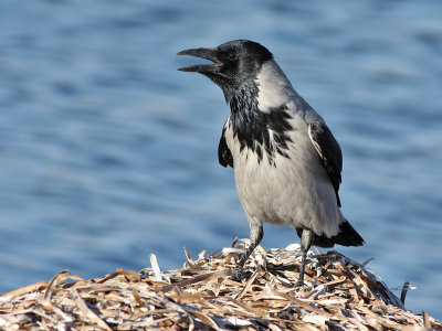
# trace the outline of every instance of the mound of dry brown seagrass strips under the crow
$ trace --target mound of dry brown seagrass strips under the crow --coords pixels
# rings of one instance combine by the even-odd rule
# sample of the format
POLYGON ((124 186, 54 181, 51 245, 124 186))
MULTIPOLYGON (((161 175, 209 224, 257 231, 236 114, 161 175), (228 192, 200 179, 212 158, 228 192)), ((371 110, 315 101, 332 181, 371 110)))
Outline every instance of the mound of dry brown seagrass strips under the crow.
POLYGON ((196 260, 185 248, 187 261, 177 270, 161 271, 151 255, 151 268, 139 273, 86 280, 63 271, 0 296, 0 329, 442 330, 425 312, 406 311, 372 271, 334 250, 309 252, 306 286, 295 287, 299 252, 288 248, 257 247, 244 282, 229 279, 239 247, 202 252, 196 260))

